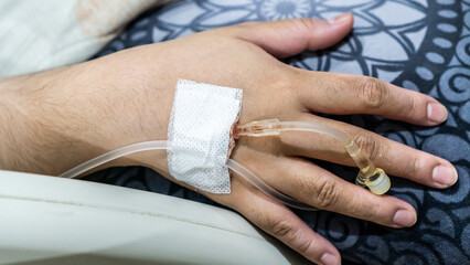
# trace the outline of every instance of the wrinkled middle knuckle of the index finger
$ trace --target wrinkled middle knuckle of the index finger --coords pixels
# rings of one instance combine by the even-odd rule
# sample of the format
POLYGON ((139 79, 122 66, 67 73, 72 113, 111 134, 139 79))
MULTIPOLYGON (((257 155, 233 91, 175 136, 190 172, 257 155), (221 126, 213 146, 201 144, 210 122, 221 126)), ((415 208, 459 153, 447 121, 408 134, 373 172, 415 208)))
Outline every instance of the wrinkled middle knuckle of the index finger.
POLYGON ((388 97, 386 85, 374 77, 361 78, 357 88, 360 98, 367 108, 380 108, 388 97))

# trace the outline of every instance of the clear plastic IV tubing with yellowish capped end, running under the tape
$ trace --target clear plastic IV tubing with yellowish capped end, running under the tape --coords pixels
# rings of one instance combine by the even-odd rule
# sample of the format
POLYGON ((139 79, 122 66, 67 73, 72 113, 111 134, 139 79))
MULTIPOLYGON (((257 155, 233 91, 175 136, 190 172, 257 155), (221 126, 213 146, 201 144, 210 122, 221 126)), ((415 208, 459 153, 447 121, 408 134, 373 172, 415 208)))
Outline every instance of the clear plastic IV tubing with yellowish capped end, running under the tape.
MULTIPOLYGON (((355 144, 355 141, 350 138, 346 134, 337 130, 334 128, 316 124, 316 123, 303 123, 303 121, 279 121, 278 119, 268 119, 253 121, 246 125, 241 125, 235 128, 234 137, 237 139, 241 136, 252 136, 252 137, 263 137, 263 136, 275 136, 279 135, 280 131, 310 131, 319 132, 323 135, 331 136, 337 140, 341 141, 351 158, 360 168, 360 172, 356 178, 356 184, 361 187, 367 187, 375 194, 383 194, 389 189, 389 178, 388 176, 380 168, 376 168, 368 157, 361 150, 361 148, 355 144)), ((167 150, 171 149, 171 142, 168 140, 154 140, 154 141, 145 141, 139 144, 133 144, 130 146, 121 147, 116 150, 106 152, 99 157, 96 157, 89 161, 86 161, 77 167, 62 173, 60 177, 63 178, 76 178, 82 173, 99 167, 106 162, 115 160, 117 158, 128 156, 135 152, 149 151, 149 150, 167 150)), ((269 184, 264 182, 260 178, 254 174, 252 171, 237 163, 232 159, 226 161, 227 168, 238 173, 242 178, 247 180, 249 183, 255 186, 266 195, 273 198, 274 200, 301 210, 317 210, 313 206, 310 206, 306 203, 302 203, 291 197, 288 197, 275 189, 269 184)))

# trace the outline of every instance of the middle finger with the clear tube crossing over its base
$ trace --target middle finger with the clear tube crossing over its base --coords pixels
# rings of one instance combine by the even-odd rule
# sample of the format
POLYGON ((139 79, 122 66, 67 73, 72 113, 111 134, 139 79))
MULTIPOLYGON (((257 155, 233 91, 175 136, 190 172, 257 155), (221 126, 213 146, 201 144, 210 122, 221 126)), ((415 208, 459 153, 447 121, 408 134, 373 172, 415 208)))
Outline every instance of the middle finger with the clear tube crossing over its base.
MULTIPOLYGON (((302 119, 346 132, 370 156, 371 161, 389 174, 438 189, 448 188, 457 181, 457 170, 445 159, 345 123, 310 114, 306 114, 302 119)), ((286 155, 355 166, 344 147, 329 136, 289 131, 280 137, 286 155)))

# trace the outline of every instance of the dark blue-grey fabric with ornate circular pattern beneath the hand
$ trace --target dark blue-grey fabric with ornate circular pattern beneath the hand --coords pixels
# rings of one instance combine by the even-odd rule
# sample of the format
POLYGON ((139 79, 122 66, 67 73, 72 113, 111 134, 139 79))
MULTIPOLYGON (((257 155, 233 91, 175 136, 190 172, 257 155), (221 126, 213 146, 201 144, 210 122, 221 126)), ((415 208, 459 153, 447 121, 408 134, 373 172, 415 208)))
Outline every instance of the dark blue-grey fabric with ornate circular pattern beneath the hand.
MULTIPOLYGON (((296 211, 343 258, 364 264, 470 264, 470 0, 194 0, 147 12, 97 56, 245 21, 331 18, 352 11, 353 33, 341 44, 286 63, 312 71, 370 75, 436 97, 449 110, 432 128, 375 116, 332 117, 451 161, 458 183, 445 191, 393 178, 391 194, 418 212, 395 230, 330 212, 296 211)), ((316 161, 353 180, 356 170, 316 161)), ((88 179, 212 203, 145 168, 116 168, 88 179)))

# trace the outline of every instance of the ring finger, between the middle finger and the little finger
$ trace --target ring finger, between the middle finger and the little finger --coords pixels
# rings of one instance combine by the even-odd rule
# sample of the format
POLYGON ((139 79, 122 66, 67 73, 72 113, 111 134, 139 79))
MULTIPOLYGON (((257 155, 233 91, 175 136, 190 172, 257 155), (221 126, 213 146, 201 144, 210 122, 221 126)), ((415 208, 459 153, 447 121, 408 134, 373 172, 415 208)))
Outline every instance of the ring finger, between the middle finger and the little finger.
POLYGON ((416 211, 405 201, 375 195, 299 158, 269 157, 243 161, 276 190, 321 210, 392 227, 412 226, 416 211))

